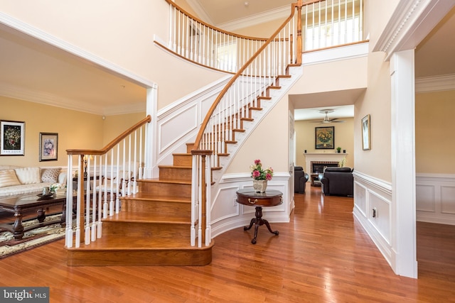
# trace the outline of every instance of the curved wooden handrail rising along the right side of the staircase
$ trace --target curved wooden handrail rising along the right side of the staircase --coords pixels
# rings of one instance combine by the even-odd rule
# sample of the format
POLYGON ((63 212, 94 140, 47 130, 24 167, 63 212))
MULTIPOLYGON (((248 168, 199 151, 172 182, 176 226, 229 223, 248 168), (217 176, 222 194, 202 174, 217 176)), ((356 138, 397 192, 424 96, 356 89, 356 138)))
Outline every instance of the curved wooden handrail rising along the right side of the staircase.
MULTIPOLYGON (((168 1, 168 0, 166 0, 168 1)), ((220 92, 220 94, 218 94, 218 97, 215 99, 215 101, 213 102, 212 106, 210 106, 210 109, 208 110, 207 114, 205 115, 205 119, 203 121, 203 123, 201 124, 200 128, 199 128, 199 132, 198 132, 198 136, 196 137, 196 141, 193 145, 193 149, 194 150, 197 150, 198 147, 199 147, 199 144, 200 144, 200 141, 202 140, 202 137, 203 137, 203 133, 205 131, 205 128, 207 127, 208 125, 208 121, 210 121, 210 116, 212 116, 213 112, 215 111, 216 107, 218 106, 218 104, 220 103, 221 99, 224 97, 224 95, 226 94, 226 92, 228 92, 228 89, 232 86, 232 84, 237 81, 237 79, 242 75, 242 73, 247 69, 247 67, 259 56, 260 53, 262 53, 262 51, 267 47, 267 45, 269 45, 270 43, 272 43, 272 41, 275 39, 275 37, 280 33, 280 31, 282 31, 282 29, 287 26, 287 23, 289 23, 289 21, 291 21, 291 18, 294 17, 294 8, 297 6, 296 3, 293 3, 291 4, 291 15, 282 23, 281 26, 279 26, 279 28, 277 29, 277 31, 275 31, 272 36, 267 39, 267 41, 265 41, 264 44, 262 44, 262 46, 256 51, 256 53, 254 55, 252 55, 252 57, 250 57, 250 60, 248 60, 245 65, 243 65, 242 67, 240 67, 240 70, 238 70, 235 75, 230 79, 230 81, 228 82, 228 84, 225 85, 225 87, 223 88, 223 90, 220 92)))

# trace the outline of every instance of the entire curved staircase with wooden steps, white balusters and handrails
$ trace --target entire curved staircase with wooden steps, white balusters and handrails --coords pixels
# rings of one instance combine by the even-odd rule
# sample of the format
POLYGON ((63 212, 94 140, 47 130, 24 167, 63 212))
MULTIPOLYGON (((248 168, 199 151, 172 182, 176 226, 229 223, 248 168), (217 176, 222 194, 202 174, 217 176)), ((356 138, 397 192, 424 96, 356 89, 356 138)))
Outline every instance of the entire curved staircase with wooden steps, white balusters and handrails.
MULTIPOLYGON (((201 127, 197 135, 195 133, 194 143, 186 145, 186 153, 173 154, 173 165, 159 166, 158 179, 137 180, 137 194, 123 194, 120 208, 118 204, 114 206, 112 199, 109 206, 106 201, 104 206, 101 206, 101 199, 98 206, 95 206, 96 203, 85 204, 86 208, 96 207, 99 210, 96 213, 96 209, 92 209, 90 219, 90 212, 84 211, 84 199, 80 197, 84 195, 83 186, 79 187, 77 213, 82 214, 80 218, 85 214, 87 222, 83 226, 81 220, 78 220, 75 238, 85 238, 89 244, 77 241, 73 248, 73 230, 67 227, 68 265, 208 265, 211 262, 214 245, 210 221, 213 203, 211 191, 216 191, 219 178, 259 121, 272 111, 299 78, 294 75, 301 75, 301 69, 291 71, 291 67, 300 66, 300 55, 294 56, 295 53, 291 50, 295 32, 293 17, 294 9, 269 39, 256 45, 254 54, 247 56, 250 59, 237 70, 210 109, 203 114, 203 121, 197 121, 201 127), (114 207, 118 214, 113 214, 114 207), (106 215, 107 208, 111 212, 110 216, 106 215), (96 221, 95 214, 100 216, 100 209, 105 211, 101 224, 89 224, 90 220, 96 221), (87 235, 90 231, 91 238, 87 235), (99 238, 95 238, 95 232, 99 238), (191 242, 195 240, 198 245, 191 246, 191 242)), ((299 21, 299 18, 297 20, 299 21)), ((297 45, 301 45, 301 41, 297 42, 297 45)), ((301 54, 301 50, 297 48, 296 53, 301 54)), ((126 136, 130 136, 131 142, 129 131, 125 131, 115 142, 109 143, 102 153, 100 150, 70 150, 67 153, 70 157, 79 155, 79 167, 84 163, 82 156, 87 157, 91 153, 100 155, 99 163, 103 163, 103 159, 107 163, 108 158, 111 161, 114 159, 112 147, 126 141, 126 136), (112 152, 110 157, 108 150, 112 152)), ((152 140, 150 137, 147 139, 152 140)), ((178 140, 179 138, 176 138, 176 141, 178 140)), ((181 145, 178 141, 178 146, 181 145)), ((146 153, 150 151, 147 150, 146 153)), ((132 155, 137 155, 137 152, 130 152, 129 157, 132 155)), ((118 157, 119 153, 117 159, 118 157)), ((90 157, 87 158, 90 175, 90 157)), ((95 167, 96 161, 95 157, 95 167)), ((69 158, 68 166, 71 165, 72 160, 69 158)), ((113 168, 111 165, 111 170, 113 168)), ((117 160, 117 176, 118 174, 117 160)), ((81 178, 78 184, 83 184, 81 178)), ((100 192, 98 194, 101 195, 100 192)), ((96 193, 93 197, 96 197, 96 193)), ((89 199, 87 195, 87 201, 89 199)), ((68 205, 71 206, 70 202, 68 205)))

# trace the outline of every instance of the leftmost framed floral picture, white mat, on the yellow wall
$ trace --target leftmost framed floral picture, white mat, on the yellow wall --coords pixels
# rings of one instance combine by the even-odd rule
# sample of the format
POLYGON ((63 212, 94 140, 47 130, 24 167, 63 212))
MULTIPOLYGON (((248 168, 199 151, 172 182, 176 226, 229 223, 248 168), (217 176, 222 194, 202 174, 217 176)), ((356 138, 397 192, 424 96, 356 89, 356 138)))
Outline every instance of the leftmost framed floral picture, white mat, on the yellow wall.
POLYGON ((25 155, 26 123, 0 121, 0 155, 25 155))

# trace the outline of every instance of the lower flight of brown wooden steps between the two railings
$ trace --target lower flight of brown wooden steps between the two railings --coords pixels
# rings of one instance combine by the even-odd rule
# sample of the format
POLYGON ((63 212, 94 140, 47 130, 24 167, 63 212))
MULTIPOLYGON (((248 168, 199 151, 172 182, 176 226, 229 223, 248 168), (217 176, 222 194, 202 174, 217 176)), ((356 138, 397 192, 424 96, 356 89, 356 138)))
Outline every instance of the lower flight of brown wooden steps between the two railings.
POLYGON ((173 155, 158 180, 138 180, 139 193, 121 197, 119 214, 102 219, 102 238, 68 248, 68 265, 207 265, 210 246, 190 245, 191 154, 173 155))

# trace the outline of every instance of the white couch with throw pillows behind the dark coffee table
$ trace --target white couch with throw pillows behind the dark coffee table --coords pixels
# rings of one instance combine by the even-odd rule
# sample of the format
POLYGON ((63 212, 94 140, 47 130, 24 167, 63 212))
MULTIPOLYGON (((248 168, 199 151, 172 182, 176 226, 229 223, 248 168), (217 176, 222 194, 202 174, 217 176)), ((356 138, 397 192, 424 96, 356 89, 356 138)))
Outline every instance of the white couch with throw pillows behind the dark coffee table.
POLYGON ((66 185, 67 172, 61 167, 20 167, 0 165, 0 198, 19 194, 39 194, 43 187, 66 185))

